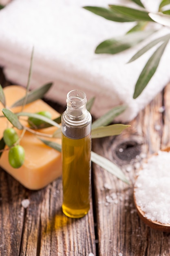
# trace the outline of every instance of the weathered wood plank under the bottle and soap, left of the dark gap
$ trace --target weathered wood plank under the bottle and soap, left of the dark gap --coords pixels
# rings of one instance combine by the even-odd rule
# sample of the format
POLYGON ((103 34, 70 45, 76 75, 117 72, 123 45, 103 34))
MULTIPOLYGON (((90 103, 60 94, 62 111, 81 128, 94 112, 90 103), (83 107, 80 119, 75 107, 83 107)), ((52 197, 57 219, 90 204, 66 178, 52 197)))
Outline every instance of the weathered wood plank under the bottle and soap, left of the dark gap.
POLYGON ((0 184, 0 255, 95 255, 92 205, 82 219, 64 216, 61 178, 29 191, 1 169, 0 184), (30 201, 26 209, 25 198, 30 201))

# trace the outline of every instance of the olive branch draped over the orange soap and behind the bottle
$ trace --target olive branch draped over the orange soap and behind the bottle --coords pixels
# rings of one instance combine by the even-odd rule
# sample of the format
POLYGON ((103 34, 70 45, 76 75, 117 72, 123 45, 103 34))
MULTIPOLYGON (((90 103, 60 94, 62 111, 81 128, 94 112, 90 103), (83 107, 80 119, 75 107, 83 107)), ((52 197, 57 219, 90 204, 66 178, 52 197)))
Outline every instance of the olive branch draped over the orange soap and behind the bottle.
MULTIPOLYGON (((30 84, 30 78, 31 78, 31 70, 32 70, 32 64, 33 64, 33 50, 31 52, 31 62, 29 67, 29 77, 28 82, 26 85, 26 93, 25 96, 13 103, 9 108, 6 108, 6 99, 4 95, 4 90, 2 86, 0 85, 0 102, 2 103, 2 114, 1 117, 6 117, 7 120, 12 124, 13 127, 17 128, 18 130, 22 130, 22 134, 20 138, 17 138, 16 141, 13 141, 12 144, 5 143, 7 139, 9 139, 9 143, 11 143, 10 138, 4 138, 2 137, 0 139, 0 156, 2 155, 4 150, 13 150, 15 146, 19 146, 20 140, 24 136, 25 131, 33 133, 35 136, 38 136, 38 138, 47 146, 54 148, 55 150, 61 152, 62 146, 61 144, 57 144, 54 141, 48 141, 46 139, 42 139, 42 137, 50 137, 50 138, 60 138, 61 137, 61 115, 57 117, 56 119, 51 119, 49 116, 45 116, 44 113, 29 113, 24 112, 24 106, 28 103, 32 103, 37 99, 42 99, 46 92, 50 90, 53 83, 47 83, 45 85, 42 85, 40 88, 29 90, 29 84, 30 84), (14 107, 21 106, 21 112, 14 113, 12 110, 14 107), (20 121, 22 120, 22 117, 27 117, 26 125, 22 124, 20 121), (31 122, 29 122, 31 121, 31 122), (53 134, 47 135, 46 133, 40 132, 40 129, 48 128, 50 126, 56 127, 56 130, 53 134), (37 129, 39 129, 37 131, 37 129), (9 146, 9 148, 5 148, 5 146, 9 146)), ((93 103, 95 101, 95 97, 91 98, 87 101, 86 108, 88 111, 91 111, 91 108, 93 107, 93 103)), ((92 132, 91 137, 93 138, 101 138, 101 137, 107 137, 107 136, 115 136, 121 134, 123 130, 129 127, 129 125, 124 124, 111 124, 115 117, 120 115, 122 112, 126 110, 126 106, 120 105, 112 108, 109 110, 105 115, 102 117, 99 117, 92 123, 92 132)), ((7 131, 7 135, 9 135, 7 131)), ((15 154, 18 149, 13 150, 12 154, 15 154)), ((23 150, 23 149, 22 149, 23 150)), ((24 158, 24 152, 22 151, 22 158, 24 158)), ((23 159, 22 159, 23 160, 23 159)), ((116 177, 118 177, 120 180, 126 182, 129 184, 129 181, 127 180, 124 173, 121 171, 121 169, 115 165, 113 162, 109 161, 108 159, 91 152, 91 161, 95 164, 98 164, 102 168, 104 168, 106 171, 112 173, 116 177)), ((20 161, 19 161, 20 162, 20 161)), ((21 164, 21 163, 19 163, 21 164)), ((23 161, 22 161, 23 164, 23 161)), ((20 165, 18 165, 20 167, 20 165)), ((16 168, 19 168, 16 167, 16 168)))

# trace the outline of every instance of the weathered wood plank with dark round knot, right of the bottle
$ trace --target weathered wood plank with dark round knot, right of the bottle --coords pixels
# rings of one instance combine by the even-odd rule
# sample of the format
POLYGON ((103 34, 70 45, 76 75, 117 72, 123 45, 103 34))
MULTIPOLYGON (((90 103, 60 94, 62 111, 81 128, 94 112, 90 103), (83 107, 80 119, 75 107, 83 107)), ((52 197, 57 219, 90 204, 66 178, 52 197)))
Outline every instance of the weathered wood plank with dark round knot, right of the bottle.
MULTIPOLYGON (((170 86, 169 86, 170 87, 170 86)), ((97 139, 93 150, 117 163, 132 184, 145 155, 170 143, 168 87, 117 137, 97 139), (165 112, 160 107, 165 103, 165 112)), ((133 188, 94 165, 98 255, 170 255, 170 234, 146 226, 138 217, 133 188)))

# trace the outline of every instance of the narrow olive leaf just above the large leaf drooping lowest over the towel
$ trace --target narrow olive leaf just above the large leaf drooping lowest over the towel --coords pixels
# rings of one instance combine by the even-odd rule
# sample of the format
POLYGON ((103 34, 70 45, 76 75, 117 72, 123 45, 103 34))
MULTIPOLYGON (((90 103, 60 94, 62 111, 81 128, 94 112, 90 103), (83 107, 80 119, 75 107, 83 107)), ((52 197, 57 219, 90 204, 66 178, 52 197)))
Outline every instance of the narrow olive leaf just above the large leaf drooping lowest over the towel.
POLYGON ((169 40, 170 39, 170 34, 166 36, 161 36, 152 42, 148 43, 146 46, 144 46, 141 50, 139 50, 132 58, 128 61, 128 63, 135 61, 137 58, 139 58, 141 55, 143 55, 145 52, 147 52, 149 49, 151 49, 153 46, 157 45, 158 43, 169 40))

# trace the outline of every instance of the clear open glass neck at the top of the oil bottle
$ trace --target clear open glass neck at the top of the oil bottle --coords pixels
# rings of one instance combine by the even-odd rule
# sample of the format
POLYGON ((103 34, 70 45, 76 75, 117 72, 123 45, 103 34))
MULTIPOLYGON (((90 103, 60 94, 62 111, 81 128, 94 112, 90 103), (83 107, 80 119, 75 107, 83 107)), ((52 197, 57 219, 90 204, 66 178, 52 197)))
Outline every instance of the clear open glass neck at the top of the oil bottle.
POLYGON ((82 119, 86 115, 86 94, 79 90, 73 90, 67 94, 66 113, 70 119, 82 119))

